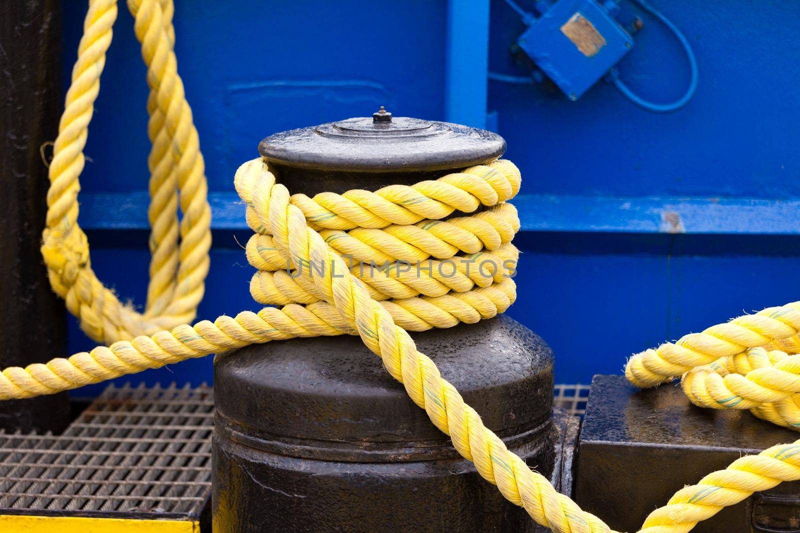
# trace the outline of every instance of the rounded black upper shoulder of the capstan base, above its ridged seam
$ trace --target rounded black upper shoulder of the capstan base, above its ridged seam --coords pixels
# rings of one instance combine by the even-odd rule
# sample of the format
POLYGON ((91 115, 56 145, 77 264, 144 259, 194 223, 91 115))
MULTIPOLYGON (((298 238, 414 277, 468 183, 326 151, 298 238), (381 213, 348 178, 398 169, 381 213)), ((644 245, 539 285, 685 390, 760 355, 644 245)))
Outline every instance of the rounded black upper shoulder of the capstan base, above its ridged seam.
MULTIPOLYGON (((509 444, 546 431, 553 356, 529 329, 499 316, 414 340, 509 444)), ((458 456, 358 337, 292 339, 218 356, 214 387, 218 430, 265 451, 364 462, 458 456)))

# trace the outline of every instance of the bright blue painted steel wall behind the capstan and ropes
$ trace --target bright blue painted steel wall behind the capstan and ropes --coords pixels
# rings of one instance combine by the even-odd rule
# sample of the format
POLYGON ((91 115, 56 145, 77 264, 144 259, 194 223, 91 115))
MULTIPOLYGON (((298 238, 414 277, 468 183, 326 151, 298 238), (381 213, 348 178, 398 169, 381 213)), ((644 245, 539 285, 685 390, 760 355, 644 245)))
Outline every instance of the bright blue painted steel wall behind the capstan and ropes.
MULTIPOLYGON (((487 45, 490 70, 524 74, 508 53, 523 26, 502 0, 490 9, 485 0, 177 4, 178 69, 215 217, 201 318, 258 309, 238 245, 249 232, 231 185, 236 167, 269 133, 378 105, 475 125, 483 109, 492 113, 488 124, 523 173, 510 315, 553 347, 558 381, 619 372, 632 352, 797 299, 800 28, 792 21, 800 3, 658 0, 700 67, 694 100, 666 116, 634 108, 604 83, 578 102, 541 86, 487 86, 487 45)), ((65 2, 65 80, 85 11, 65 2)), ((623 77, 653 99, 675 97, 686 62, 677 42, 642 18, 623 77)), ((149 145, 132 26, 122 6, 86 146, 81 222, 98 275, 141 304, 149 145)), ((93 345, 74 320, 69 344, 72 352, 93 345)), ((210 378, 204 358, 123 380, 210 378)))

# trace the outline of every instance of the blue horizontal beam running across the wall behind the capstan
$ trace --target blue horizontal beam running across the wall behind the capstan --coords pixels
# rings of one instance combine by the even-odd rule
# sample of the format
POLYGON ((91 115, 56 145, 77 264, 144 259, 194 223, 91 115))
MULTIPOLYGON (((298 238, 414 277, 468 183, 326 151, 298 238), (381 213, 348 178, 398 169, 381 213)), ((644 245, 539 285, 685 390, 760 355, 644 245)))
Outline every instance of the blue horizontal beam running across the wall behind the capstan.
MULTIPOLYGON (((82 193, 86 229, 147 229, 146 193, 82 193)), ((212 228, 246 229, 235 193, 210 193, 212 228)), ((800 200, 586 197, 521 194, 522 231, 800 235, 800 200)))

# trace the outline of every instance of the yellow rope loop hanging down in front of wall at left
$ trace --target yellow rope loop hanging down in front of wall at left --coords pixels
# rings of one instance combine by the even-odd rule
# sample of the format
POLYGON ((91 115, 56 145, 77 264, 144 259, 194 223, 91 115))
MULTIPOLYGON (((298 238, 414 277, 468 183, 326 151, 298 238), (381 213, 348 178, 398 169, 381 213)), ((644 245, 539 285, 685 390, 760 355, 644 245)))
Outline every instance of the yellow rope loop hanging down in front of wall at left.
POLYGON ((91 269, 86 235, 78 226, 78 177, 111 43, 111 26, 117 18, 115 0, 93 0, 86 14, 50 163, 42 243, 42 257, 55 292, 78 316, 86 334, 102 343, 150 335, 192 320, 202 300, 211 245, 205 165, 178 76, 172 2, 130 0, 128 6, 136 19, 134 30, 142 42, 150 86, 148 134, 153 149, 148 161, 152 197, 148 217, 153 258, 146 311, 135 312, 103 287, 91 269), (183 213, 179 229, 178 204, 183 213))

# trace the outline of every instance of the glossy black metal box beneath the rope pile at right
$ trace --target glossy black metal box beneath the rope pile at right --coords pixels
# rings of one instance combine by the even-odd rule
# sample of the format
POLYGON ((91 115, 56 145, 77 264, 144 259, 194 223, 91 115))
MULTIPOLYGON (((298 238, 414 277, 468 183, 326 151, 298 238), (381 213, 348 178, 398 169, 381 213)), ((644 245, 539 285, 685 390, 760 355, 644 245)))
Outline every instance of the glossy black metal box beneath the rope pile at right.
MULTIPOLYGON (((696 408, 680 388, 639 391, 623 376, 594 376, 578 454, 578 504, 617 531, 637 531, 650 511, 710 471, 798 439, 750 412, 696 408)), ((726 507, 693 531, 800 532, 800 483, 782 483, 726 507)))

